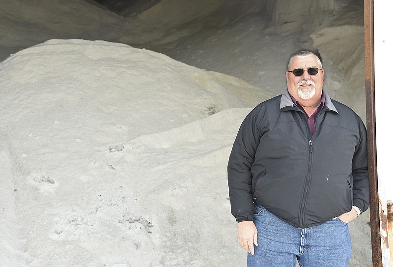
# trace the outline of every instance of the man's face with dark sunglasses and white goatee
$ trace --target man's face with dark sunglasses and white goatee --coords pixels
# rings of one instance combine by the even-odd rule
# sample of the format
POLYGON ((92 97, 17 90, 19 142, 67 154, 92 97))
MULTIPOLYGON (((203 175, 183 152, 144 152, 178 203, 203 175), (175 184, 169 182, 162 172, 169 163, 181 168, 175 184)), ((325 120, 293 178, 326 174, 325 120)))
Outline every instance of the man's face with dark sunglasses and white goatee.
MULTIPOLYGON (((323 86, 323 69, 318 70, 315 75, 310 75, 308 68, 321 68, 316 56, 310 55, 307 57, 296 57, 292 60, 289 70, 303 69, 304 73, 301 76, 295 76, 293 72, 286 72, 286 86, 289 93, 295 97, 296 100, 309 100, 313 105, 317 103, 322 95, 323 86)), ((302 101, 304 102, 304 101, 302 101)))

